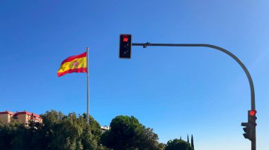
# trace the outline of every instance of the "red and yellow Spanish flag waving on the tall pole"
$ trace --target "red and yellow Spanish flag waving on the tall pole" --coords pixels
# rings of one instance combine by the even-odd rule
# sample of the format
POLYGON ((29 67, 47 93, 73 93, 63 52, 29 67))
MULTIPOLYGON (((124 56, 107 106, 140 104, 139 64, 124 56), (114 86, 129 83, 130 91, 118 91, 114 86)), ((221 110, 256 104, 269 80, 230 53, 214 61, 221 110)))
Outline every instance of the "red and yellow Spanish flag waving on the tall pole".
POLYGON ((57 72, 58 77, 67 73, 87 73, 87 52, 62 61, 61 66, 57 72))

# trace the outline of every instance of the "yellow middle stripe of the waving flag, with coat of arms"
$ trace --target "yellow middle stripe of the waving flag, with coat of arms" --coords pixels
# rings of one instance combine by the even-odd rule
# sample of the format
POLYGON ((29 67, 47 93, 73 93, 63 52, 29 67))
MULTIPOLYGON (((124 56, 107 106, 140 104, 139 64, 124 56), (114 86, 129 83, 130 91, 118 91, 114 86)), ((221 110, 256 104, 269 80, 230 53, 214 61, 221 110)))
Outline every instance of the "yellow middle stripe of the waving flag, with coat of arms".
POLYGON ((69 61, 67 63, 62 64, 58 70, 58 73, 62 73, 66 70, 74 68, 87 68, 86 62, 87 62, 86 57, 76 58, 73 61, 69 61))

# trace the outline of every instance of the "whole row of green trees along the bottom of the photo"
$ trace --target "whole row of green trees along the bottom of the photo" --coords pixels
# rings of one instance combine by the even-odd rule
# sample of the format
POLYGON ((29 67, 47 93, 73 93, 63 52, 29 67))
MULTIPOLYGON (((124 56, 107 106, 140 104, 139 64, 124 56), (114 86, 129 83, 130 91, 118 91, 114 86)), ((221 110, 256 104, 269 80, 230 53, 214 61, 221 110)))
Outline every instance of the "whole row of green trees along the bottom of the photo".
POLYGON ((159 142, 153 129, 145 127, 137 118, 119 115, 110 123, 110 130, 102 134, 101 126, 86 114, 64 115, 47 111, 40 115, 42 123, 28 125, 12 121, 0 123, 0 149, 93 149, 93 150, 192 150, 181 139, 159 142))

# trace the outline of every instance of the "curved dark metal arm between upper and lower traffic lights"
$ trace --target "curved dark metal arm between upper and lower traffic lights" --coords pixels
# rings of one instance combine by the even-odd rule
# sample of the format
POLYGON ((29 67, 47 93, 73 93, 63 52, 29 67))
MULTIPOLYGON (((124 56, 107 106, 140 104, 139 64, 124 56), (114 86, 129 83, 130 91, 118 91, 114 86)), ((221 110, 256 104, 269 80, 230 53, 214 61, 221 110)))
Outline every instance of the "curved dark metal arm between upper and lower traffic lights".
POLYGON ((244 65, 244 63, 242 63, 242 61, 240 61, 239 58, 237 58, 234 54, 232 54, 230 51, 227 51, 226 49, 223 49, 219 46, 214 46, 214 45, 210 45, 210 44, 151 44, 151 43, 132 43, 132 46, 143 46, 144 48, 146 48, 147 46, 188 46, 188 47, 210 47, 212 49, 217 49, 219 51, 224 52, 225 54, 228 54, 229 56, 231 56, 231 58, 234 58, 234 60, 239 63, 239 65, 241 66, 241 68, 243 68, 244 72, 246 73, 246 76, 248 77, 248 82, 249 82, 249 86, 251 87, 251 110, 256 110, 255 109, 255 93, 254 93, 254 85, 253 85, 253 81, 251 78, 251 74, 248 72, 248 69, 246 68, 246 66, 244 65))

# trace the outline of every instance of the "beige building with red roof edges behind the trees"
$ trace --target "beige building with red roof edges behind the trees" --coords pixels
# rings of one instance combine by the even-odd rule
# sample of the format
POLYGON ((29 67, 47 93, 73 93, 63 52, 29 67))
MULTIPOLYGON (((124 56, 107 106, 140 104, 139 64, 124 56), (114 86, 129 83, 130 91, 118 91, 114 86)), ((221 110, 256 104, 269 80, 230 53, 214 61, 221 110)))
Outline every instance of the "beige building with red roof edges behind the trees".
POLYGON ((0 112, 1 123, 10 123, 11 120, 17 120, 18 123, 29 123, 30 120, 42 123, 42 118, 40 118, 40 115, 37 115, 35 113, 30 113, 27 111, 17 111, 16 113, 13 113, 11 111, 0 112))

